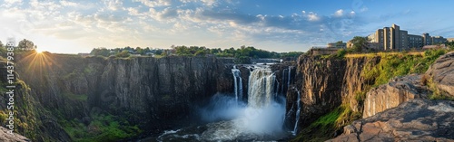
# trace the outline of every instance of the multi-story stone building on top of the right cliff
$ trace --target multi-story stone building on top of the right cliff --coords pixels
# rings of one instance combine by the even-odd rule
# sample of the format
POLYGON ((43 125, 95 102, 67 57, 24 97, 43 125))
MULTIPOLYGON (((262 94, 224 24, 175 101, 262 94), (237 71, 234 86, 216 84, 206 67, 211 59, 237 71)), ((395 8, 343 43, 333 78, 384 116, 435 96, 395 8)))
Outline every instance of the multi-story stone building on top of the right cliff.
POLYGON ((410 48, 422 48, 424 45, 446 43, 442 36, 430 36, 429 33, 422 35, 409 34, 408 31, 400 30, 400 26, 392 24, 391 27, 378 29, 368 36, 370 43, 377 43, 382 50, 407 50, 410 48))

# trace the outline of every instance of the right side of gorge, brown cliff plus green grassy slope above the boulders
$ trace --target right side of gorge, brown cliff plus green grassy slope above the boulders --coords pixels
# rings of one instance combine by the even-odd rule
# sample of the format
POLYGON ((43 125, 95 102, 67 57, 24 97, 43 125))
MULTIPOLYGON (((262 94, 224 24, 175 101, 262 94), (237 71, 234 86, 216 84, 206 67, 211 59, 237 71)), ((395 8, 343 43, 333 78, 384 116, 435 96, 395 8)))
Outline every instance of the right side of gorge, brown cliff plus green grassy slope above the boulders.
MULTIPOLYGON (((301 126, 297 129, 300 133, 297 141, 327 140, 340 135, 342 127, 355 119, 397 107, 410 99, 427 98, 424 94, 430 94, 431 90, 419 82, 420 76, 386 83, 397 76, 427 71, 445 52, 363 54, 349 58, 303 55, 291 84, 301 92, 301 117, 295 119, 297 115, 291 115, 286 126, 289 128, 295 121, 301 126)), ((298 95, 298 91, 288 91, 287 112, 297 106, 298 95)))

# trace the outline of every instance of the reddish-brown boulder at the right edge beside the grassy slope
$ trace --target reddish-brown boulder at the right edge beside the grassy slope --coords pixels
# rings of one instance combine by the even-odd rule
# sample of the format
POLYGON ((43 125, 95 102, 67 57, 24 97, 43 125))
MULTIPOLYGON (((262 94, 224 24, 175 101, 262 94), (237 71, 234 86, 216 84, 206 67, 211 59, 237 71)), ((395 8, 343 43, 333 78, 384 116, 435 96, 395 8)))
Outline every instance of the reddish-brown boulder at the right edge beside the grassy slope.
POLYGON ((454 52, 440 56, 426 71, 426 75, 439 90, 454 97, 454 52))

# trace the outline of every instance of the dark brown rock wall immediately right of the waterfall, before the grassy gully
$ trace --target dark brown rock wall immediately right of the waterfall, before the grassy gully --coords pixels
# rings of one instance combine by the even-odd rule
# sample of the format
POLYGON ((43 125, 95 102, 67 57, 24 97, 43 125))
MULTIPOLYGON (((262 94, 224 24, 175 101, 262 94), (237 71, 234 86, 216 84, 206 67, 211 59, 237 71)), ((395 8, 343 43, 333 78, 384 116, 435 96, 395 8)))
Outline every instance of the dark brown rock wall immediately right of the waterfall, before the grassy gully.
MULTIPOLYGON (((300 124, 307 126, 316 118, 341 105, 341 85, 345 71, 342 60, 326 60, 301 56, 296 67, 293 86, 299 90, 287 91, 287 112, 296 112, 297 99, 301 97, 300 124)), ((287 117, 287 124, 294 124, 296 115, 287 117)), ((292 126, 290 126, 292 127, 292 126)))

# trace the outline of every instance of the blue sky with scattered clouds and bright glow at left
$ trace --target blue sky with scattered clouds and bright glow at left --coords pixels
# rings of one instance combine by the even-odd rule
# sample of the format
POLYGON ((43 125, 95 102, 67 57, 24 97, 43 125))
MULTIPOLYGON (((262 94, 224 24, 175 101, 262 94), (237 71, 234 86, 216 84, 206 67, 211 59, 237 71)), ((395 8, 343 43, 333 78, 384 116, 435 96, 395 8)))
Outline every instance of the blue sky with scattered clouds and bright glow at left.
POLYGON ((400 25, 454 37, 454 1, 423 0, 1 0, 0 41, 48 52, 172 45, 306 52, 400 25))

